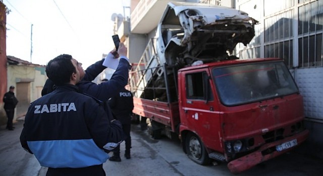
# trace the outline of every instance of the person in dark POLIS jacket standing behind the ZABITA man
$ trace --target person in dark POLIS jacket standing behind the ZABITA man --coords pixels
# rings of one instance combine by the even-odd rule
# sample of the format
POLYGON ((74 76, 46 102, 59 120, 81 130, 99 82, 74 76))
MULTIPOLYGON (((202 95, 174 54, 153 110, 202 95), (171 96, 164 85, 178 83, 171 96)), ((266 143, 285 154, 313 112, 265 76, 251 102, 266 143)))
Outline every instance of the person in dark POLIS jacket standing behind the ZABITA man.
MULTIPOLYGON (((115 119, 122 123, 122 129, 125 133, 126 151, 125 157, 130 159, 130 148, 131 148, 131 113, 134 108, 133 95, 130 91, 126 90, 125 87, 119 92, 117 96, 112 97, 109 100, 109 106, 112 110, 112 114, 115 119)), ((120 158, 120 145, 116 147, 113 152, 113 156, 109 158, 110 161, 121 161, 120 158)))

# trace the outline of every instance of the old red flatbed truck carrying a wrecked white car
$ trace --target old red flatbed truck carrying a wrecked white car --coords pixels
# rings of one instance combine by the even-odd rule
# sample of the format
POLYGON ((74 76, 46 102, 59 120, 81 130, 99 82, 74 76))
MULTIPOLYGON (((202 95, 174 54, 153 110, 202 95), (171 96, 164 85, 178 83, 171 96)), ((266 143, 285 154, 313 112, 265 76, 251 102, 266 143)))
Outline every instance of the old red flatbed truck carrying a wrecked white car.
POLYGON ((168 5, 155 55, 130 77, 133 113, 148 118, 153 138, 179 137, 190 159, 228 162, 233 173, 306 140, 303 99, 284 60, 228 54, 250 42, 256 23, 234 9, 168 5))

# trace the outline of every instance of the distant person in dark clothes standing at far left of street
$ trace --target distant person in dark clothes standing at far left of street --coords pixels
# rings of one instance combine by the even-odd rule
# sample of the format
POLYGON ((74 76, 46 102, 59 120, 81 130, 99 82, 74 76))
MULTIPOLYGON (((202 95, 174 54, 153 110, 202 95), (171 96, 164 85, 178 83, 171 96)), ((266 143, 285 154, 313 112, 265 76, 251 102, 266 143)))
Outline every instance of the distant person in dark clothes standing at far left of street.
POLYGON ((7 117, 8 117, 8 122, 7 122, 7 129, 8 130, 14 130, 14 126, 13 126, 13 119, 14 119, 14 114, 15 114, 15 108, 18 104, 18 100, 15 97, 15 87, 13 85, 11 85, 9 87, 9 92, 7 92, 4 96, 4 109, 6 111, 7 117))

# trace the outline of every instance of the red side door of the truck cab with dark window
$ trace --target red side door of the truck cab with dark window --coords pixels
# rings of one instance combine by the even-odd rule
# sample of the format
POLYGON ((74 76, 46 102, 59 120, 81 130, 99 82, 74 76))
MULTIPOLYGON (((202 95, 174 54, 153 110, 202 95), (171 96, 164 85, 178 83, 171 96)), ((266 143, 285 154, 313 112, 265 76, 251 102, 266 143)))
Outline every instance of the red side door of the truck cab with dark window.
POLYGON ((220 113, 208 69, 185 71, 184 75, 181 82, 185 89, 180 89, 181 123, 195 132, 206 147, 221 150, 220 113))

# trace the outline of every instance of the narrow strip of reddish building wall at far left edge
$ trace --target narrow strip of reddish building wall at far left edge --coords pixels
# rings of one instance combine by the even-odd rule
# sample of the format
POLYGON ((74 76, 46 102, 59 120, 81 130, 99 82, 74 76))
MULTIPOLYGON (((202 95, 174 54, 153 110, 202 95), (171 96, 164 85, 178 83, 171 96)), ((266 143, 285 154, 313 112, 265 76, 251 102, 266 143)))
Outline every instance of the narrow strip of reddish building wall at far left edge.
POLYGON ((0 2, 0 125, 7 123, 3 98, 7 90, 6 6, 0 2))

